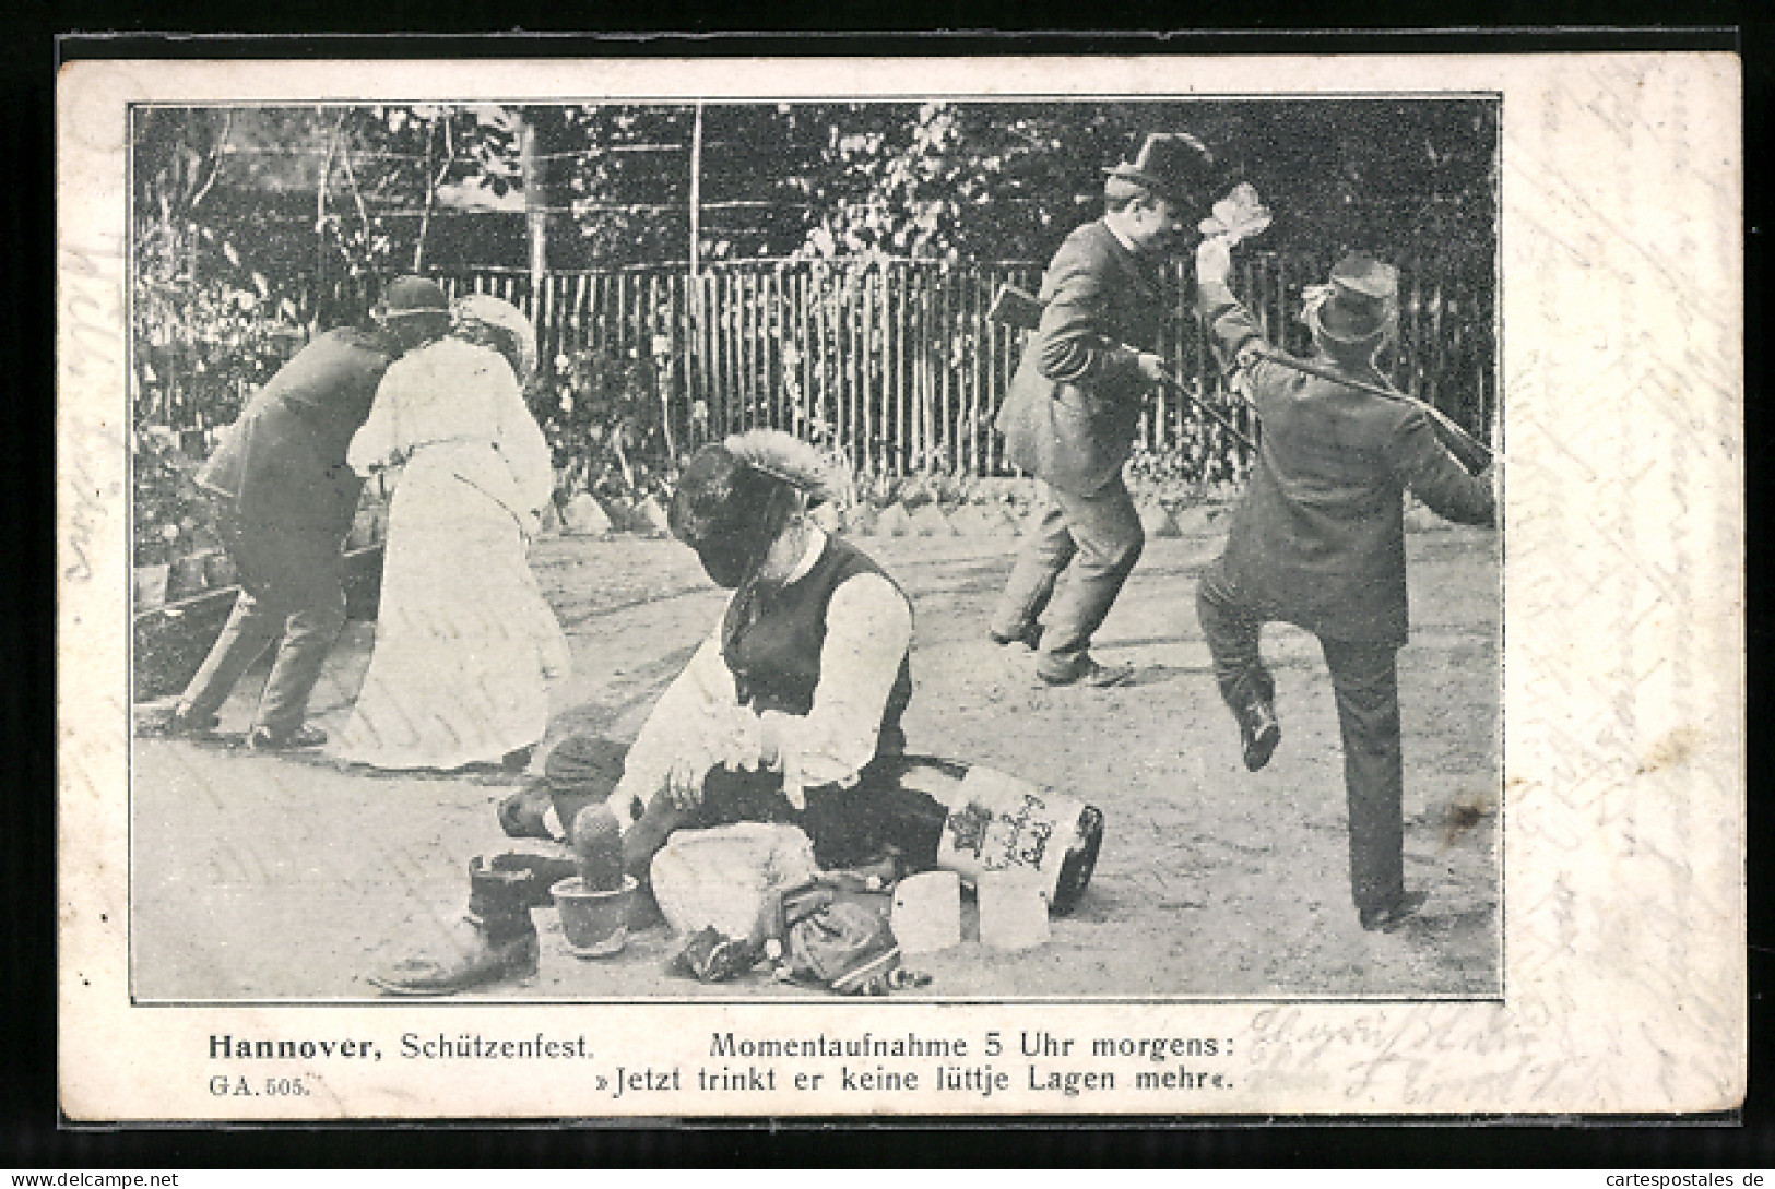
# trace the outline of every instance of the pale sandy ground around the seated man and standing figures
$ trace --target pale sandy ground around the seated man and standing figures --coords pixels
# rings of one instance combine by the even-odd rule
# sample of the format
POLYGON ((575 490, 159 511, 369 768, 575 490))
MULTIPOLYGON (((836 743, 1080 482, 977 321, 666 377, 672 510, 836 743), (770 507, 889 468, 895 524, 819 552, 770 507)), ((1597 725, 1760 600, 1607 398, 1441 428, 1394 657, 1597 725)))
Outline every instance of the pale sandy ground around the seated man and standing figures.
MULTIPOLYGON (((1424 914, 1365 933, 1349 902, 1344 783, 1317 642, 1276 625, 1283 740, 1246 774, 1195 619, 1219 539, 1148 541, 1097 655, 1140 667, 1118 690, 1047 689, 1028 653, 983 639, 1014 539, 864 541, 916 605, 912 751, 985 763, 1100 806, 1097 877, 1053 941, 1006 955, 967 941, 921 955, 932 997, 1486 997, 1500 988, 1500 582, 1493 534, 1409 536, 1413 644, 1400 653, 1406 880, 1424 914)), ((639 729, 714 625, 722 594, 673 541, 557 538, 536 568, 573 641, 550 738, 639 729)), ((350 625, 316 694, 339 728, 371 625, 350 625)), ((243 731, 263 671, 224 710, 243 731)), ((364 976, 426 949, 462 914, 472 855, 506 848, 511 777, 366 776, 259 756, 240 738, 135 740, 133 994, 147 1001, 360 999, 364 976)), ((964 935, 971 933, 967 905, 964 935)), ((664 926, 579 960, 536 912, 541 971, 476 992, 509 999, 818 994, 754 974, 667 978, 664 926)))

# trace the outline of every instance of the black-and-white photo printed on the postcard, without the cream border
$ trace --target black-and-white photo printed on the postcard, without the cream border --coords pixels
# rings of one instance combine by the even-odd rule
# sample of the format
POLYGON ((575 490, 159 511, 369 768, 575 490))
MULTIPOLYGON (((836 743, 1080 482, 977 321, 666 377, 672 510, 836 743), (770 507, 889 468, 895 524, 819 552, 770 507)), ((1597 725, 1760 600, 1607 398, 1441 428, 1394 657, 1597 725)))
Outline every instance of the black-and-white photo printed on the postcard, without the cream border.
POLYGON ((1500 992, 1496 96, 131 115, 138 997, 1500 992))

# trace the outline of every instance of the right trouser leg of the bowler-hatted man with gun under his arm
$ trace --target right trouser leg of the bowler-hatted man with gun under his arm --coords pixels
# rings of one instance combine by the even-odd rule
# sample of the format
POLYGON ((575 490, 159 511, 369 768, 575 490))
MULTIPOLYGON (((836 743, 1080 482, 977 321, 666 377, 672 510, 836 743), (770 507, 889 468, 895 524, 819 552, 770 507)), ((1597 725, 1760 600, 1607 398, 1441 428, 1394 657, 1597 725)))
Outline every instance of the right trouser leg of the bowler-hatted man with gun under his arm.
POLYGON ((1077 555, 1067 568, 1065 586, 1047 609, 1042 655, 1035 667, 1042 676, 1070 680, 1077 676, 1092 635, 1109 616, 1122 584, 1140 561, 1147 532, 1140 527, 1134 499, 1120 476, 1092 495, 1060 490, 1053 495, 1077 555))

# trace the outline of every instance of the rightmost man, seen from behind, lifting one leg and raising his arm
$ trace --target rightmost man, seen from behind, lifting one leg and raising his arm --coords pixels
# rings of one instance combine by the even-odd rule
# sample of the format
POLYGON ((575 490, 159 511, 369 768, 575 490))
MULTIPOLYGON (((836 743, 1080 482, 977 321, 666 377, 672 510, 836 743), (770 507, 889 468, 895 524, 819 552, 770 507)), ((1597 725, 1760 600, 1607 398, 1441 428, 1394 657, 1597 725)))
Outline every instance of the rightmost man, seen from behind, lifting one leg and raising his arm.
MULTIPOLYGON (((1351 891, 1363 928, 1392 930, 1425 900, 1404 887, 1395 664, 1408 635, 1404 492, 1459 524, 1495 525, 1496 502, 1422 408, 1260 358, 1262 330, 1227 287, 1230 268, 1225 241, 1196 248, 1202 312, 1225 357, 1246 369, 1264 435, 1196 612, 1253 772, 1282 738, 1258 634, 1282 619, 1319 637, 1344 735, 1351 891)), ((1392 266, 1345 257, 1308 300, 1314 362, 1386 387, 1374 357, 1397 321, 1397 289, 1392 266)))

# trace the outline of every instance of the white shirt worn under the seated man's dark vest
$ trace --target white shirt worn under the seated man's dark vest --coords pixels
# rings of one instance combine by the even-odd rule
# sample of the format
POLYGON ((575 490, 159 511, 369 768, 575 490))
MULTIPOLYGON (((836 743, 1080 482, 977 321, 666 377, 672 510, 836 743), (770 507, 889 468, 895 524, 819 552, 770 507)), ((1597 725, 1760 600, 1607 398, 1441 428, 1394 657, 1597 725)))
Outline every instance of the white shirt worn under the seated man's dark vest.
MULTIPOLYGON (((808 550, 788 584, 808 575, 825 548, 825 534, 809 525, 808 550)), ((609 807, 618 822, 634 823, 634 806, 646 806, 666 786, 667 774, 689 765, 698 777, 715 765, 756 770, 765 763, 765 742, 776 740, 769 768, 783 774, 783 791, 797 807, 802 790, 856 784, 875 758, 882 712, 912 642, 912 609, 893 582, 879 573, 845 579, 832 591, 820 648, 820 683, 813 708, 802 715, 742 706, 733 671, 721 655, 721 621, 666 689, 623 765, 623 779, 609 807)))

